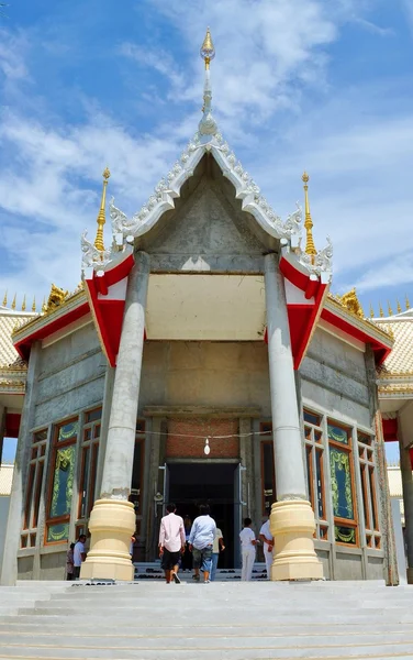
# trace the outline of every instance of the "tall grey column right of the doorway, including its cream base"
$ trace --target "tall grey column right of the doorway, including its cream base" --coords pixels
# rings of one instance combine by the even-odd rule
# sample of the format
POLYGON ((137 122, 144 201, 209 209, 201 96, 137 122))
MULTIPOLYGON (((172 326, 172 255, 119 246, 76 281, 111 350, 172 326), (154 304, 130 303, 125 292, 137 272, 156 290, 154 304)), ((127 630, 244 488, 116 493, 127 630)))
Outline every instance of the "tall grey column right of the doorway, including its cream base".
POLYGON ((270 516, 275 538, 271 580, 321 580, 314 514, 306 498, 284 284, 274 254, 265 256, 265 285, 277 482, 277 502, 270 516))

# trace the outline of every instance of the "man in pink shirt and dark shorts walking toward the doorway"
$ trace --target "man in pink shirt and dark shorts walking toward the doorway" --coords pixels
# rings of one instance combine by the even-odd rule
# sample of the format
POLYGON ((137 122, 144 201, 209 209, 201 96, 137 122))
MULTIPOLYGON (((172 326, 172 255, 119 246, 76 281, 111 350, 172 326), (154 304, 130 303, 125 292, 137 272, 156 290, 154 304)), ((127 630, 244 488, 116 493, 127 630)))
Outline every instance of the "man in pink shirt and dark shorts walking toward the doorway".
POLYGON ((169 584, 174 580, 176 584, 179 584, 179 556, 185 551, 186 542, 183 520, 175 514, 177 510, 175 504, 168 504, 166 510, 168 514, 160 520, 159 557, 166 583, 169 584))

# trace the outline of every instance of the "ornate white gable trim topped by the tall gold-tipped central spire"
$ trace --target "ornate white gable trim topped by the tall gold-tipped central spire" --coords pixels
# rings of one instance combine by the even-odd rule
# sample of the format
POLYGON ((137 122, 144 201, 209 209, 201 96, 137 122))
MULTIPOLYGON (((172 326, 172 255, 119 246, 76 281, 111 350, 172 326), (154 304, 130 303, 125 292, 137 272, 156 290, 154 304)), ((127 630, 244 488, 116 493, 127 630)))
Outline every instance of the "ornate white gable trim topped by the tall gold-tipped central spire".
MULTIPOLYGON (((102 243, 94 242, 92 244, 87 240, 87 232, 83 232, 81 238, 81 249, 83 252, 82 268, 91 267, 97 273, 104 271, 112 262, 119 260, 119 251, 124 250, 127 243, 133 243, 134 239, 150 231, 166 211, 175 208, 174 200, 180 196, 182 185, 193 175, 203 155, 210 153, 216 161, 223 175, 233 184, 235 196, 242 201, 243 210, 248 211, 269 235, 278 240, 283 240, 286 245, 297 254, 298 261, 306 272, 319 276, 324 272, 327 273, 330 278, 333 256, 331 241, 328 240, 327 246, 320 252, 316 252, 315 248, 310 254, 302 252, 300 248, 302 231, 302 211, 300 206, 297 205, 297 210, 283 222, 261 195, 257 184, 244 169, 219 131, 217 124, 212 117, 210 63, 215 56, 215 48, 209 30, 206 31, 200 54, 205 63, 205 72, 202 118, 198 132, 190 140, 170 172, 160 179, 146 204, 132 218, 127 218, 125 213, 114 206, 114 199, 111 199, 112 248, 111 250, 104 250, 102 243)), ((311 228, 308 231, 311 232, 311 228)), ((310 237, 308 235, 308 238, 310 237)))

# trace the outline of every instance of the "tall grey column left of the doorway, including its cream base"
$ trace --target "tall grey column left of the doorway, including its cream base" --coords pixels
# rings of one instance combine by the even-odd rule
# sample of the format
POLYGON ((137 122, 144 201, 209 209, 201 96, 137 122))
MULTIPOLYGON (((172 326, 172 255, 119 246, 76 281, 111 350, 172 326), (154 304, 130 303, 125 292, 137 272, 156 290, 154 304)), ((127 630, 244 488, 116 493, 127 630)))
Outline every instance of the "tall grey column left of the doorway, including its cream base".
POLYGON ((90 551, 81 579, 132 580, 131 535, 135 512, 129 502, 139 398, 149 257, 138 252, 126 290, 113 386, 100 498, 90 515, 90 551))

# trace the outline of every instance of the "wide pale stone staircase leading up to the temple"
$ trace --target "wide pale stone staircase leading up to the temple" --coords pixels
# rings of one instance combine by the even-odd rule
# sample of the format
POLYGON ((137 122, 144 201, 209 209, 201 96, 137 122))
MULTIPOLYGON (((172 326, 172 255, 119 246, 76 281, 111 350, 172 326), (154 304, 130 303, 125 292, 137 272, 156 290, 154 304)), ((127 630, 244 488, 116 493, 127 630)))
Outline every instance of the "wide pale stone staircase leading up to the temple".
POLYGON ((20 582, 0 587, 0 658, 413 659, 413 587, 20 582))

